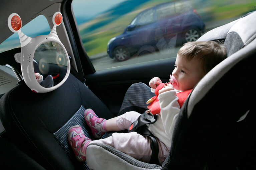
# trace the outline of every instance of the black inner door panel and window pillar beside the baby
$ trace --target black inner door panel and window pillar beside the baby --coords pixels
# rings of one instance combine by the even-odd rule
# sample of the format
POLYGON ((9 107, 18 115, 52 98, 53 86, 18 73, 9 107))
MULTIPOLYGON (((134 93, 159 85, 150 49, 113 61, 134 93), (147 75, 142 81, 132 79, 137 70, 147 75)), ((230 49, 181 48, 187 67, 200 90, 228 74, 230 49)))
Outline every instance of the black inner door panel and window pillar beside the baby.
POLYGON ((77 71, 80 76, 86 79, 85 84, 106 104, 112 113, 117 115, 126 90, 133 83, 148 84, 156 76, 161 78, 163 82, 169 81, 176 56, 95 71, 82 45, 71 3, 72 0, 64 1, 61 6, 61 13, 74 51, 75 62, 79 66, 77 71))

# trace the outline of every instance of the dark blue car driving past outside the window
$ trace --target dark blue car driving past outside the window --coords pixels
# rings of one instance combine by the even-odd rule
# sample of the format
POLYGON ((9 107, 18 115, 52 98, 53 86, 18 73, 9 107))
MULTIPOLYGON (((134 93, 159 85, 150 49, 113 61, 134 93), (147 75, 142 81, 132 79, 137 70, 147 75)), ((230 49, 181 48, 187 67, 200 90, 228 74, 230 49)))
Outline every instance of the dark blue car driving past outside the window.
POLYGON ((187 1, 158 4, 139 13, 121 35, 109 40, 110 58, 124 61, 138 56, 196 41, 205 31, 205 24, 187 1))

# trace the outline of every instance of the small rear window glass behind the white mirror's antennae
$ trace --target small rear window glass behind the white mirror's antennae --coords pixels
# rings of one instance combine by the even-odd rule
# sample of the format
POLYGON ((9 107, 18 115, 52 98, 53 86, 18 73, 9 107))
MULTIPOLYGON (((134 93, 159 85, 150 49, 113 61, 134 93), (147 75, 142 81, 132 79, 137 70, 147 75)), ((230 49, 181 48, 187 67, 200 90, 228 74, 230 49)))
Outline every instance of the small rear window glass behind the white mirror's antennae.
MULTIPOLYGON (((28 37, 36 37, 47 35, 51 30, 46 18, 43 15, 39 15, 25 26, 22 26, 21 31, 28 37)), ((0 52, 18 47, 20 47, 20 39, 18 33, 15 33, 0 44, 0 52)))

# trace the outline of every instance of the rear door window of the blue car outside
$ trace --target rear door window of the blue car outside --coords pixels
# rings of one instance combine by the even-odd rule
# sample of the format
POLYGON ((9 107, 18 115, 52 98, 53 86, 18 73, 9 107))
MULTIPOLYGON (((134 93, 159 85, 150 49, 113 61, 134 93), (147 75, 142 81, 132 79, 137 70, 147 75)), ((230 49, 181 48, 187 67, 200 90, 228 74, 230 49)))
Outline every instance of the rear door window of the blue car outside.
POLYGON ((171 17, 172 15, 175 15, 175 8, 174 8, 174 3, 165 3, 165 4, 161 4, 158 5, 156 8, 156 12, 157 12, 157 19, 164 19, 167 17, 171 17))

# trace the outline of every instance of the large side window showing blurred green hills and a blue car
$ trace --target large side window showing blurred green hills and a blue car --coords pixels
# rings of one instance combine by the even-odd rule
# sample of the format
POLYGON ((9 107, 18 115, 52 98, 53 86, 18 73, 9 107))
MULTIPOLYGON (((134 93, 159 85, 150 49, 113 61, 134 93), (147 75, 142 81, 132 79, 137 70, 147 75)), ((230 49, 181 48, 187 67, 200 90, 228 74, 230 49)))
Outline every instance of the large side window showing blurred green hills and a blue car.
POLYGON ((256 10, 256 2, 73 0, 72 7, 85 51, 101 70, 176 57, 182 44, 256 10))

